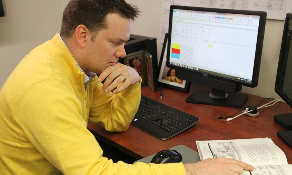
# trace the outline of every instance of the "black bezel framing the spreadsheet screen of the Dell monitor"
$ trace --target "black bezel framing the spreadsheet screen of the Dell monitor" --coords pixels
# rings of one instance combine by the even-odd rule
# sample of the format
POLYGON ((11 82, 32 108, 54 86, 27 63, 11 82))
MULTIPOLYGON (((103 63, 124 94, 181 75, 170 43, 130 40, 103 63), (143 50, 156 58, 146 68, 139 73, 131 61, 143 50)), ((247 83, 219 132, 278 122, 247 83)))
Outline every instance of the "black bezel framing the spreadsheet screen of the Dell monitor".
POLYGON ((263 37, 264 37, 264 31, 265 31, 265 21, 267 13, 264 11, 250 11, 250 10, 233 10, 233 9, 220 9, 220 8, 203 8, 203 7, 191 7, 191 6, 170 6, 170 15, 169 15, 169 27, 168 27, 168 41, 171 41, 171 31, 172 31, 172 16, 173 16, 173 9, 181 9, 181 10, 196 10, 196 11, 209 11, 209 12, 218 12, 218 13, 232 13, 232 14, 244 14, 244 15, 258 15, 260 16, 259 21, 259 28, 258 31, 263 31, 258 33, 257 37, 257 43, 256 43, 256 53, 255 53, 255 60, 254 60, 254 67, 253 67, 253 76, 251 83, 244 82, 244 81, 238 81, 232 78, 227 78, 223 76, 218 76, 215 74, 207 74, 208 77, 206 77, 205 72, 197 71, 197 70, 191 70, 179 66, 175 66, 170 64, 170 48, 171 48, 171 42, 168 42, 167 46, 167 61, 166 65, 167 67, 178 69, 179 71, 184 71, 190 74, 195 74, 198 76, 211 78, 213 80, 217 81, 224 81, 228 83, 233 83, 236 85, 244 85, 247 87, 254 88, 258 85, 258 77, 260 72, 260 61, 261 61, 261 55, 262 55, 262 48, 263 48, 263 37))

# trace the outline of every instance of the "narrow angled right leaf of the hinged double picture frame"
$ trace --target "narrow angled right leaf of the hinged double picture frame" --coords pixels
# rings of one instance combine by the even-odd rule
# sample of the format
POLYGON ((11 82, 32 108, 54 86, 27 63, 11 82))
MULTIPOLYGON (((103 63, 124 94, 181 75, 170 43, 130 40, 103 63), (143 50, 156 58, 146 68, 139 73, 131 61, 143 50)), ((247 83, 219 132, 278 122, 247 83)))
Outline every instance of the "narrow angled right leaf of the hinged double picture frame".
POLYGON ((145 68, 146 68, 146 80, 147 86, 150 87, 152 92, 154 92, 154 75, 153 75, 153 64, 152 64, 152 55, 145 50, 145 68))

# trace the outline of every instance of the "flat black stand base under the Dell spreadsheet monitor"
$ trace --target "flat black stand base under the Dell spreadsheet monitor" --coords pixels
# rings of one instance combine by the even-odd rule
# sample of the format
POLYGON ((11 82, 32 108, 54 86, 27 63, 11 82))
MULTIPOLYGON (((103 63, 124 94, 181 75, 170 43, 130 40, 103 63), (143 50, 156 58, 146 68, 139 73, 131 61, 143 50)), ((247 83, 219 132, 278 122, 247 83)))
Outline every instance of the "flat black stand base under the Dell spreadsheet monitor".
POLYGON ((199 90, 193 92, 185 101, 188 103, 208 104, 215 106, 229 106, 240 108, 244 105, 248 95, 241 93, 226 93, 223 90, 199 90))

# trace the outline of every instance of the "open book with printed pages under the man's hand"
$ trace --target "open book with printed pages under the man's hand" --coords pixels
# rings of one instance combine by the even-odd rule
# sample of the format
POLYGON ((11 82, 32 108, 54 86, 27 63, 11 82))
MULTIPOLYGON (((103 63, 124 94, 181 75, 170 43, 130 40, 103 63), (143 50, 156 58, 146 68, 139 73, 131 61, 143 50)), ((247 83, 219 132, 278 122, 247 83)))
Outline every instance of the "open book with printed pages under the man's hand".
POLYGON ((284 152, 269 138, 196 141, 201 160, 226 157, 253 165, 242 175, 292 175, 284 152))

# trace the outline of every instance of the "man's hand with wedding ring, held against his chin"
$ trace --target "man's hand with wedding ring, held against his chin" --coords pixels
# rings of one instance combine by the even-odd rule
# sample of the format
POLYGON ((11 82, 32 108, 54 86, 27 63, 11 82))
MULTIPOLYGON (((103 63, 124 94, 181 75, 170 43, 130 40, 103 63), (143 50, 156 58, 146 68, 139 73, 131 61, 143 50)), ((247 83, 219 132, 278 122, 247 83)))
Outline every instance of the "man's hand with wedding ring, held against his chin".
POLYGON ((116 88, 121 82, 124 83, 113 91, 114 94, 126 89, 129 85, 139 83, 140 76, 135 69, 117 62, 114 66, 107 67, 98 77, 98 81, 102 82, 106 78, 102 86, 102 91, 108 93, 116 88), (124 79, 123 76, 126 77, 124 79))

